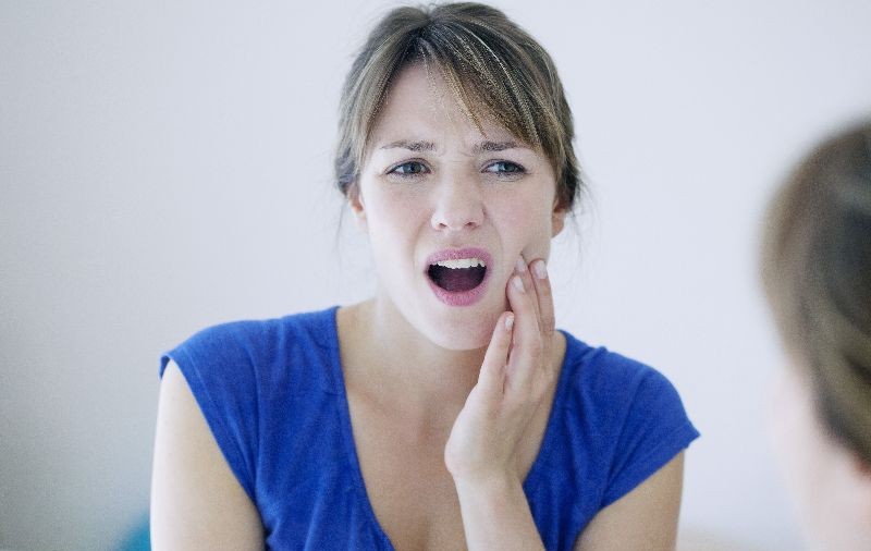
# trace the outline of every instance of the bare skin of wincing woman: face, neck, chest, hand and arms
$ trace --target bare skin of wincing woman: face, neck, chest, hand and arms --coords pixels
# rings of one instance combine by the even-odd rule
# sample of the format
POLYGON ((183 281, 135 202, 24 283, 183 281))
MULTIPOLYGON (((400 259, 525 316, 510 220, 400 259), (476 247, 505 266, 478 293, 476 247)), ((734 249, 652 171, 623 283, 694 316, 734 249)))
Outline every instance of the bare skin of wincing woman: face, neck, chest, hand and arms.
MULTIPOLYGON (((349 194, 378 276, 373 298, 336 315, 354 441, 396 549, 543 549, 522 482, 565 354, 544 260, 566 212, 548 159, 489 120, 482 135, 446 89, 419 66, 400 73, 349 194), (492 255, 488 287, 474 305, 447 306, 429 287, 426 259, 467 246, 492 255)), ((193 549, 184 542, 199 538, 259 549, 241 488, 213 503, 211 492, 238 486, 225 464, 179 480, 201 461, 224 462, 177 367, 161 387, 155 549, 193 549), (228 514, 208 512, 218 506, 228 514)), ((682 479, 683 454, 601 511, 576 549, 674 549, 682 479)))

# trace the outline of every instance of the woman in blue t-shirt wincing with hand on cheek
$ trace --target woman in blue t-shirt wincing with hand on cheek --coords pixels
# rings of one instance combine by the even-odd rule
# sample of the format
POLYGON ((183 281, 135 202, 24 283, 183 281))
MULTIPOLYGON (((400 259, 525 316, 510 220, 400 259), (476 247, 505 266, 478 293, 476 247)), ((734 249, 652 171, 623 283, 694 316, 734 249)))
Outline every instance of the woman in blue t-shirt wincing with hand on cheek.
POLYGON ((492 8, 400 8, 342 98, 376 296, 164 357, 156 549, 673 549, 679 397, 554 330, 580 187, 550 57, 492 8))

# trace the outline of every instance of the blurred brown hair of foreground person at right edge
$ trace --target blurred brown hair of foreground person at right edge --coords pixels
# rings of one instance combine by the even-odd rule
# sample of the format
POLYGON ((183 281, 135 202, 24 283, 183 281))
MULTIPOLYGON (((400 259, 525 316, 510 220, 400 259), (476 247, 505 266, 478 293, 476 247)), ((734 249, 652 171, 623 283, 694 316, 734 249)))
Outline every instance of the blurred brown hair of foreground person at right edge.
POLYGON ((871 123, 823 143, 765 218, 762 280, 829 431, 871 465, 871 123))

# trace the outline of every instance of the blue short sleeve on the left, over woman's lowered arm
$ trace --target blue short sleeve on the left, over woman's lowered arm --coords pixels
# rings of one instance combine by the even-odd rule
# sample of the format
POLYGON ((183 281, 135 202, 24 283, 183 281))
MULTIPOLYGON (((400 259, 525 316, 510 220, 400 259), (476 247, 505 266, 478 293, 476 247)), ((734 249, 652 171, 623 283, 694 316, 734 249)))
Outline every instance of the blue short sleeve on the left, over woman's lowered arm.
POLYGON ((245 333, 245 322, 200 331, 161 357, 160 377, 175 362, 231 470, 255 501, 258 392, 245 333))

